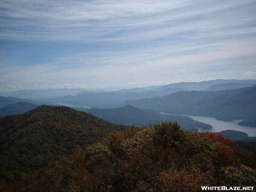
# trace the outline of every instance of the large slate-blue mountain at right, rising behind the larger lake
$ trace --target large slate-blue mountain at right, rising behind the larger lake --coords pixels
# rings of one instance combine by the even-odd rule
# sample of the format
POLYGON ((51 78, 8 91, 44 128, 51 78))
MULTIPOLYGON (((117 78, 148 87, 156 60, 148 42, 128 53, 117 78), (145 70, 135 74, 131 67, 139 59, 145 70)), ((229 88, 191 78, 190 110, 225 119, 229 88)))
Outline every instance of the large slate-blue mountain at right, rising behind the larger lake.
MULTIPOLYGON (((210 116, 221 120, 247 119, 256 114, 256 86, 221 91, 183 91, 153 99, 125 102, 164 113, 210 116)), ((255 126, 255 125, 254 125, 255 126)))

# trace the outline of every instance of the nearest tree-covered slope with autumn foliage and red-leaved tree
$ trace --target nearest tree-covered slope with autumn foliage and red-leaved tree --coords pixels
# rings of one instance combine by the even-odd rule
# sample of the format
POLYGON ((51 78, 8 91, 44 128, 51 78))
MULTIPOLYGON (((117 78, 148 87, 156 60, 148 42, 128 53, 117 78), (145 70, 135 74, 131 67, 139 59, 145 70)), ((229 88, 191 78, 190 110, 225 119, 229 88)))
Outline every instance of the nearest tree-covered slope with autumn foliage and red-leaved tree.
POLYGON ((162 123, 79 148, 29 175, 23 187, 29 192, 199 192, 201 186, 253 186, 255 158, 222 136, 162 123))

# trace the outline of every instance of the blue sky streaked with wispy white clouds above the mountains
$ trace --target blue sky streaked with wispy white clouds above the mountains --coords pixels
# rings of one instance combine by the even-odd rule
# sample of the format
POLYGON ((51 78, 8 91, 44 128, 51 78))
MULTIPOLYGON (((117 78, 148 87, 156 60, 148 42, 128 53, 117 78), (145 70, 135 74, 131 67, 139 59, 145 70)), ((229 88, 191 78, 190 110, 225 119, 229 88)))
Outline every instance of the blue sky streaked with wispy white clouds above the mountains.
POLYGON ((0 0, 0 92, 256 79, 255 0, 0 0))

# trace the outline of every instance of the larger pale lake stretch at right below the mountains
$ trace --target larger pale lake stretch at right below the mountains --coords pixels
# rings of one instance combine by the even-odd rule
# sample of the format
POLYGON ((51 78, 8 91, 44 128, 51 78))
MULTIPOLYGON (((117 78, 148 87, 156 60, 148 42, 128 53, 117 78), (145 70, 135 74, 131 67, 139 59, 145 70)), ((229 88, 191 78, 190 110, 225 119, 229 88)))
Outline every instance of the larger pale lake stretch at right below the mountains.
MULTIPOLYGON (((171 115, 167 113, 164 113, 164 114, 171 115)), ((209 125, 212 125, 212 129, 209 129, 206 131, 220 132, 223 130, 230 129, 230 130, 236 130, 236 131, 243 131, 247 133, 249 137, 256 137, 256 127, 245 127, 245 126, 238 125, 237 123, 240 122, 239 120, 226 122, 226 121, 217 120, 215 118, 207 117, 207 116, 191 116, 191 115, 183 115, 183 116, 188 116, 194 119, 195 121, 200 121, 200 122, 204 122, 209 125)), ((205 131, 205 130, 199 129, 199 131, 205 131)))

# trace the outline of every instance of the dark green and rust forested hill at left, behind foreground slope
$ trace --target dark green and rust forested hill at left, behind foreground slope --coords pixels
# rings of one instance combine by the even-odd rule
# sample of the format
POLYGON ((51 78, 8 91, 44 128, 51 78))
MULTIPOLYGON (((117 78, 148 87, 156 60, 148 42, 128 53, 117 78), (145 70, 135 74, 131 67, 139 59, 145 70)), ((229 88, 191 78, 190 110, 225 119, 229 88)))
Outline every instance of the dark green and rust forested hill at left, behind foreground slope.
POLYGON ((78 145, 95 143, 111 131, 124 128, 88 113, 46 105, 22 115, 2 117, 0 176, 15 182, 29 170, 71 154, 78 145))

